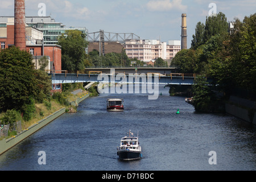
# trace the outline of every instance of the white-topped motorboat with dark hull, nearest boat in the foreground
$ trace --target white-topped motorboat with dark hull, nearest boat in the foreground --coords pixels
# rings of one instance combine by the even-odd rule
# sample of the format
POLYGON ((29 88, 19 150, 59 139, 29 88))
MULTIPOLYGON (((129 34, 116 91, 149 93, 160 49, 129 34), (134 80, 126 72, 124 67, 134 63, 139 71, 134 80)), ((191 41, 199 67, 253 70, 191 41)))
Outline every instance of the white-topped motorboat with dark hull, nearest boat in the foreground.
POLYGON ((117 148, 117 155, 120 160, 136 160, 142 158, 138 136, 131 137, 131 135, 133 135, 133 133, 129 130, 129 137, 123 137, 120 147, 117 148))

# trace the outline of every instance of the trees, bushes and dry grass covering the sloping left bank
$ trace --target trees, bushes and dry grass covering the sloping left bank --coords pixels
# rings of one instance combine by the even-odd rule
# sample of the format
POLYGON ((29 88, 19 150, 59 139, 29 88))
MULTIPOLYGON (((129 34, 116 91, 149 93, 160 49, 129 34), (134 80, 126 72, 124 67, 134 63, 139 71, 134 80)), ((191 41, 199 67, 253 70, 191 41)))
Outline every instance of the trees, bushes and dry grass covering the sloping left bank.
POLYGON ((0 72, 0 126, 10 124, 10 135, 15 135, 17 121, 24 130, 63 107, 76 110, 69 103, 89 93, 82 83, 63 84, 63 92, 51 92, 48 73, 36 70, 32 55, 16 47, 0 52, 0 72), (81 92, 72 94, 76 89, 81 92))

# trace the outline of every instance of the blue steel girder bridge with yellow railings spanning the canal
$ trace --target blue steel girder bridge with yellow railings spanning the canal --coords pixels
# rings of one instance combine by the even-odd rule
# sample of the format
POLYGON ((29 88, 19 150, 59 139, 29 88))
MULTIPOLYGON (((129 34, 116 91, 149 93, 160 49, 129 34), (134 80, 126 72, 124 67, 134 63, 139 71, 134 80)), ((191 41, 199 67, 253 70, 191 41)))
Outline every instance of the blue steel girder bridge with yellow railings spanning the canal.
POLYGON ((192 85, 195 76, 184 76, 182 73, 163 76, 156 73, 149 74, 76 74, 76 73, 55 73, 55 80, 52 84, 69 84, 76 82, 102 82, 102 83, 129 83, 129 84, 164 84, 164 85, 192 85), (180 75, 178 75, 180 74, 180 75))

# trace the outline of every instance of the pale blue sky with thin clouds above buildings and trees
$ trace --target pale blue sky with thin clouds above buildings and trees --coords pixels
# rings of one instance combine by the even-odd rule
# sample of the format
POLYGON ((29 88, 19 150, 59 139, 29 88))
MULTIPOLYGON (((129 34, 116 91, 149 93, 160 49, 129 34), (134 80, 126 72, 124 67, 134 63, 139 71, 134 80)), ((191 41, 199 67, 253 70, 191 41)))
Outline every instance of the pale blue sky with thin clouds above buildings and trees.
MULTIPOLYGON (((187 42, 191 46, 197 22, 213 10, 228 21, 256 13, 255 0, 26 0, 26 16, 38 16, 46 5, 46 16, 67 27, 86 27, 88 32, 133 33, 141 39, 161 42, 181 40, 181 14, 187 14, 187 42), (216 8, 212 6, 214 3, 216 8), (210 6, 209 6, 210 5, 210 6)), ((0 0, 0 16, 14 16, 14 0, 0 0)))

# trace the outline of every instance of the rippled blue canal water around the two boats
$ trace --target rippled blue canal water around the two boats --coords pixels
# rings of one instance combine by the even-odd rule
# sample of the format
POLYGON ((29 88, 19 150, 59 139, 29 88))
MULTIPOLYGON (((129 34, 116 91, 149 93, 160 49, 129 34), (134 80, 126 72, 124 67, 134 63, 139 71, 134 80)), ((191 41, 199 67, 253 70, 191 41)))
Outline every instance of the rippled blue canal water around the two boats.
POLYGON ((61 115, 2 154, 0 170, 256 170, 254 126, 231 115, 196 113, 184 97, 159 89, 157 100, 146 94, 86 99, 77 113, 61 115), (106 111, 107 98, 123 98, 125 110, 106 111), (139 134, 143 159, 123 162, 117 147, 129 130, 139 134))

